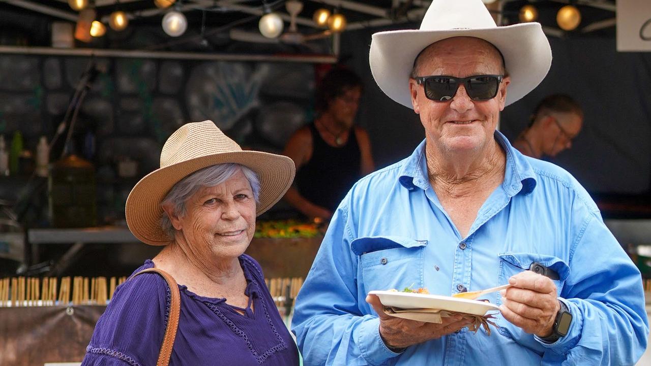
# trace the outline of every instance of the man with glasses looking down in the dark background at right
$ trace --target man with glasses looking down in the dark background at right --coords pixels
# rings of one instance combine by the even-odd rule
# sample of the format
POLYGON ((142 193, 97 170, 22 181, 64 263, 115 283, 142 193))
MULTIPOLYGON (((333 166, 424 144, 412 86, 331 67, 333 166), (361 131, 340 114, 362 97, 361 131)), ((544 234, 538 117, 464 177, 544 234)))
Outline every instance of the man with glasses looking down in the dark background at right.
POLYGON ((555 157, 572 147, 583 127, 583 110, 577 101, 564 94, 542 99, 534 109, 531 123, 513 142, 521 153, 535 158, 555 157))

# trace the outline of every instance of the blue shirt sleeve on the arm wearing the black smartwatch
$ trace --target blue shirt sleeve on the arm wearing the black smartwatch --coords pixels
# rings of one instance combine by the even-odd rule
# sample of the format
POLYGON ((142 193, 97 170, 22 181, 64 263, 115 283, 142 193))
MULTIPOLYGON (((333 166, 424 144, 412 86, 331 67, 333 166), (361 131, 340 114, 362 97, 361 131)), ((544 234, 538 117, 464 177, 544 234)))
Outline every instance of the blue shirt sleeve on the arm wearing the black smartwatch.
POLYGON ((640 272, 600 217, 582 229, 560 299, 572 323, 555 343, 536 337, 542 365, 634 365, 649 332, 640 272))

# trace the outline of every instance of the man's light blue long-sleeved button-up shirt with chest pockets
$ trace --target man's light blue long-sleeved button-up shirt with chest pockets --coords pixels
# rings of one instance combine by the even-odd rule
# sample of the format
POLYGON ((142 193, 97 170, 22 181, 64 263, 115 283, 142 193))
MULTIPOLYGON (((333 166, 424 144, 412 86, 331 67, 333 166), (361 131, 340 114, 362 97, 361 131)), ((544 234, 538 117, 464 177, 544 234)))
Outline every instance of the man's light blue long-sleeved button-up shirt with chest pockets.
MULTIPOLYGON (((461 237, 432 189, 425 142, 357 182, 335 212, 296 301, 292 330, 306 365, 632 365, 648 322, 639 270, 568 172, 525 157, 501 133, 503 183, 461 237), (533 262, 555 270, 572 313, 545 343, 499 313, 499 330, 467 329, 396 354, 380 338, 372 290, 450 295, 508 283, 533 262)), ((499 293, 485 296, 501 304, 499 293)))

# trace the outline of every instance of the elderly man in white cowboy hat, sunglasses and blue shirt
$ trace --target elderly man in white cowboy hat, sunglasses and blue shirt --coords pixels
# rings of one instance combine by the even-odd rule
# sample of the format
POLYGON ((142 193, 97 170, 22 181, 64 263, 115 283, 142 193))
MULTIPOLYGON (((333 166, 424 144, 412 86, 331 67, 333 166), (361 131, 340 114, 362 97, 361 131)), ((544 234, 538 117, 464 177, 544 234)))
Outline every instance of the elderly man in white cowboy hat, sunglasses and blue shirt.
POLYGON ((335 211, 294 313, 306 365, 631 365, 641 356, 639 271, 568 172, 495 131, 499 112, 550 64, 539 24, 496 27, 480 0, 434 0, 420 30, 374 34, 374 78, 419 114, 425 139, 357 182, 335 211), (389 317, 367 295, 505 283, 485 297, 500 309, 490 335, 469 332, 460 316, 389 317))

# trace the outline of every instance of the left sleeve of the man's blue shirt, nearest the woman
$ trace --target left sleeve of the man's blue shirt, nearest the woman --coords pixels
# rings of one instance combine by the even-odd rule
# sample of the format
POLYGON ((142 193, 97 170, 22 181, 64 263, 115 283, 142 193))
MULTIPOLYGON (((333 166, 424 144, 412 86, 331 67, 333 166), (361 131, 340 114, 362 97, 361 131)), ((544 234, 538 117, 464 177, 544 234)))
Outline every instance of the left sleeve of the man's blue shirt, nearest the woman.
POLYGON ((305 365, 383 365, 398 356, 383 343, 378 317, 359 309, 349 198, 335 211, 296 299, 292 332, 305 365))

